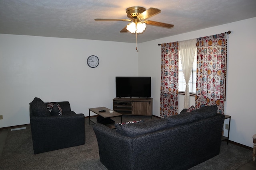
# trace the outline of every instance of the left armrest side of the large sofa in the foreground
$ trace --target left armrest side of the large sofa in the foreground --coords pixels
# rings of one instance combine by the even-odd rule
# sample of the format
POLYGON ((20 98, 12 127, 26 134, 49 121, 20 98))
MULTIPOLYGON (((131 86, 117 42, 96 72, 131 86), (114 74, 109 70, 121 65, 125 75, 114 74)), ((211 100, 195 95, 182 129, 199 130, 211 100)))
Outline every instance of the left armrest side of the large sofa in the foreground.
POLYGON ((93 127, 96 134, 100 162, 108 169, 134 169, 133 165, 133 139, 120 135, 103 124, 93 127))

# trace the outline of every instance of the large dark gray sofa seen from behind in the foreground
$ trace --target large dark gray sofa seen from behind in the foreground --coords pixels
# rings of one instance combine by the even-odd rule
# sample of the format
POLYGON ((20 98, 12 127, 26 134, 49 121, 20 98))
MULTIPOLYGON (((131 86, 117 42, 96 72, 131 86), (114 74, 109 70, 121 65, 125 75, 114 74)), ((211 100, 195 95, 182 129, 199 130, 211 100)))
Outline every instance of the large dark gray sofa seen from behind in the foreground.
MULTIPOLYGON (((184 111, 183 111, 184 112, 184 111)), ((109 170, 186 170, 220 152, 224 115, 216 106, 127 125, 96 124, 100 162, 109 170)))

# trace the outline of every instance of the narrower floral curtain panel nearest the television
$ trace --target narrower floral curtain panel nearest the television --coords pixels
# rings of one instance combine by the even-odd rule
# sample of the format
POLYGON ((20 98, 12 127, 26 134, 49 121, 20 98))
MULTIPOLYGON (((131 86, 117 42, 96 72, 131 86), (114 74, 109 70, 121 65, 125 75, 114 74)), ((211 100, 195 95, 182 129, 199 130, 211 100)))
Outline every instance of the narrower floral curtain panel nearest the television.
POLYGON ((178 114, 178 42, 161 45, 160 116, 178 114))

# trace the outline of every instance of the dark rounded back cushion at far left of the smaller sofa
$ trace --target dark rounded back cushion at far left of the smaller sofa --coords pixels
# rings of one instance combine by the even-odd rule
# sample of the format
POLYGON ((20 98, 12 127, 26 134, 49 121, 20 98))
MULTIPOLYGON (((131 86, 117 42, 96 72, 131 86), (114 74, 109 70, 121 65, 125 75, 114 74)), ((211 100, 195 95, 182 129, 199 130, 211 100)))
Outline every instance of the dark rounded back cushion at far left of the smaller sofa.
POLYGON ((50 112, 46 108, 46 104, 40 98, 34 98, 30 103, 30 108, 34 116, 48 116, 50 112))

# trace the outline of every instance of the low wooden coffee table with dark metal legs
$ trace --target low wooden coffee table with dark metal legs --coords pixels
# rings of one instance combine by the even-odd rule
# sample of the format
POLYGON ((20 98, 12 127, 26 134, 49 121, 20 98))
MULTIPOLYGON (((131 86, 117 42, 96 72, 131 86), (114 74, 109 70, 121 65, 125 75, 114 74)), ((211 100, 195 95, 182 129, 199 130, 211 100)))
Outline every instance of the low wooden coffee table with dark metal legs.
MULTIPOLYGON (((110 109, 108 109, 107 107, 95 107, 95 108, 90 108, 89 109, 89 125, 91 125, 91 122, 96 124, 94 121, 91 120, 91 115, 90 115, 91 111, 93 113, 96 113, 97 115, 100 115, 100 116, 104 117, 104 118, 107 118, 107 117, 121 117, 121 122, 122 122, 122 114, 121 113, 118 113, 116 111, 113 111, 113 113, 109 113, 110 109), (100 110, 106 110, 106 111, 99 112, 100 110)), ((115 129, 114 123, 108 124, 106 126, 110 127, 111 129, 115 129)))

